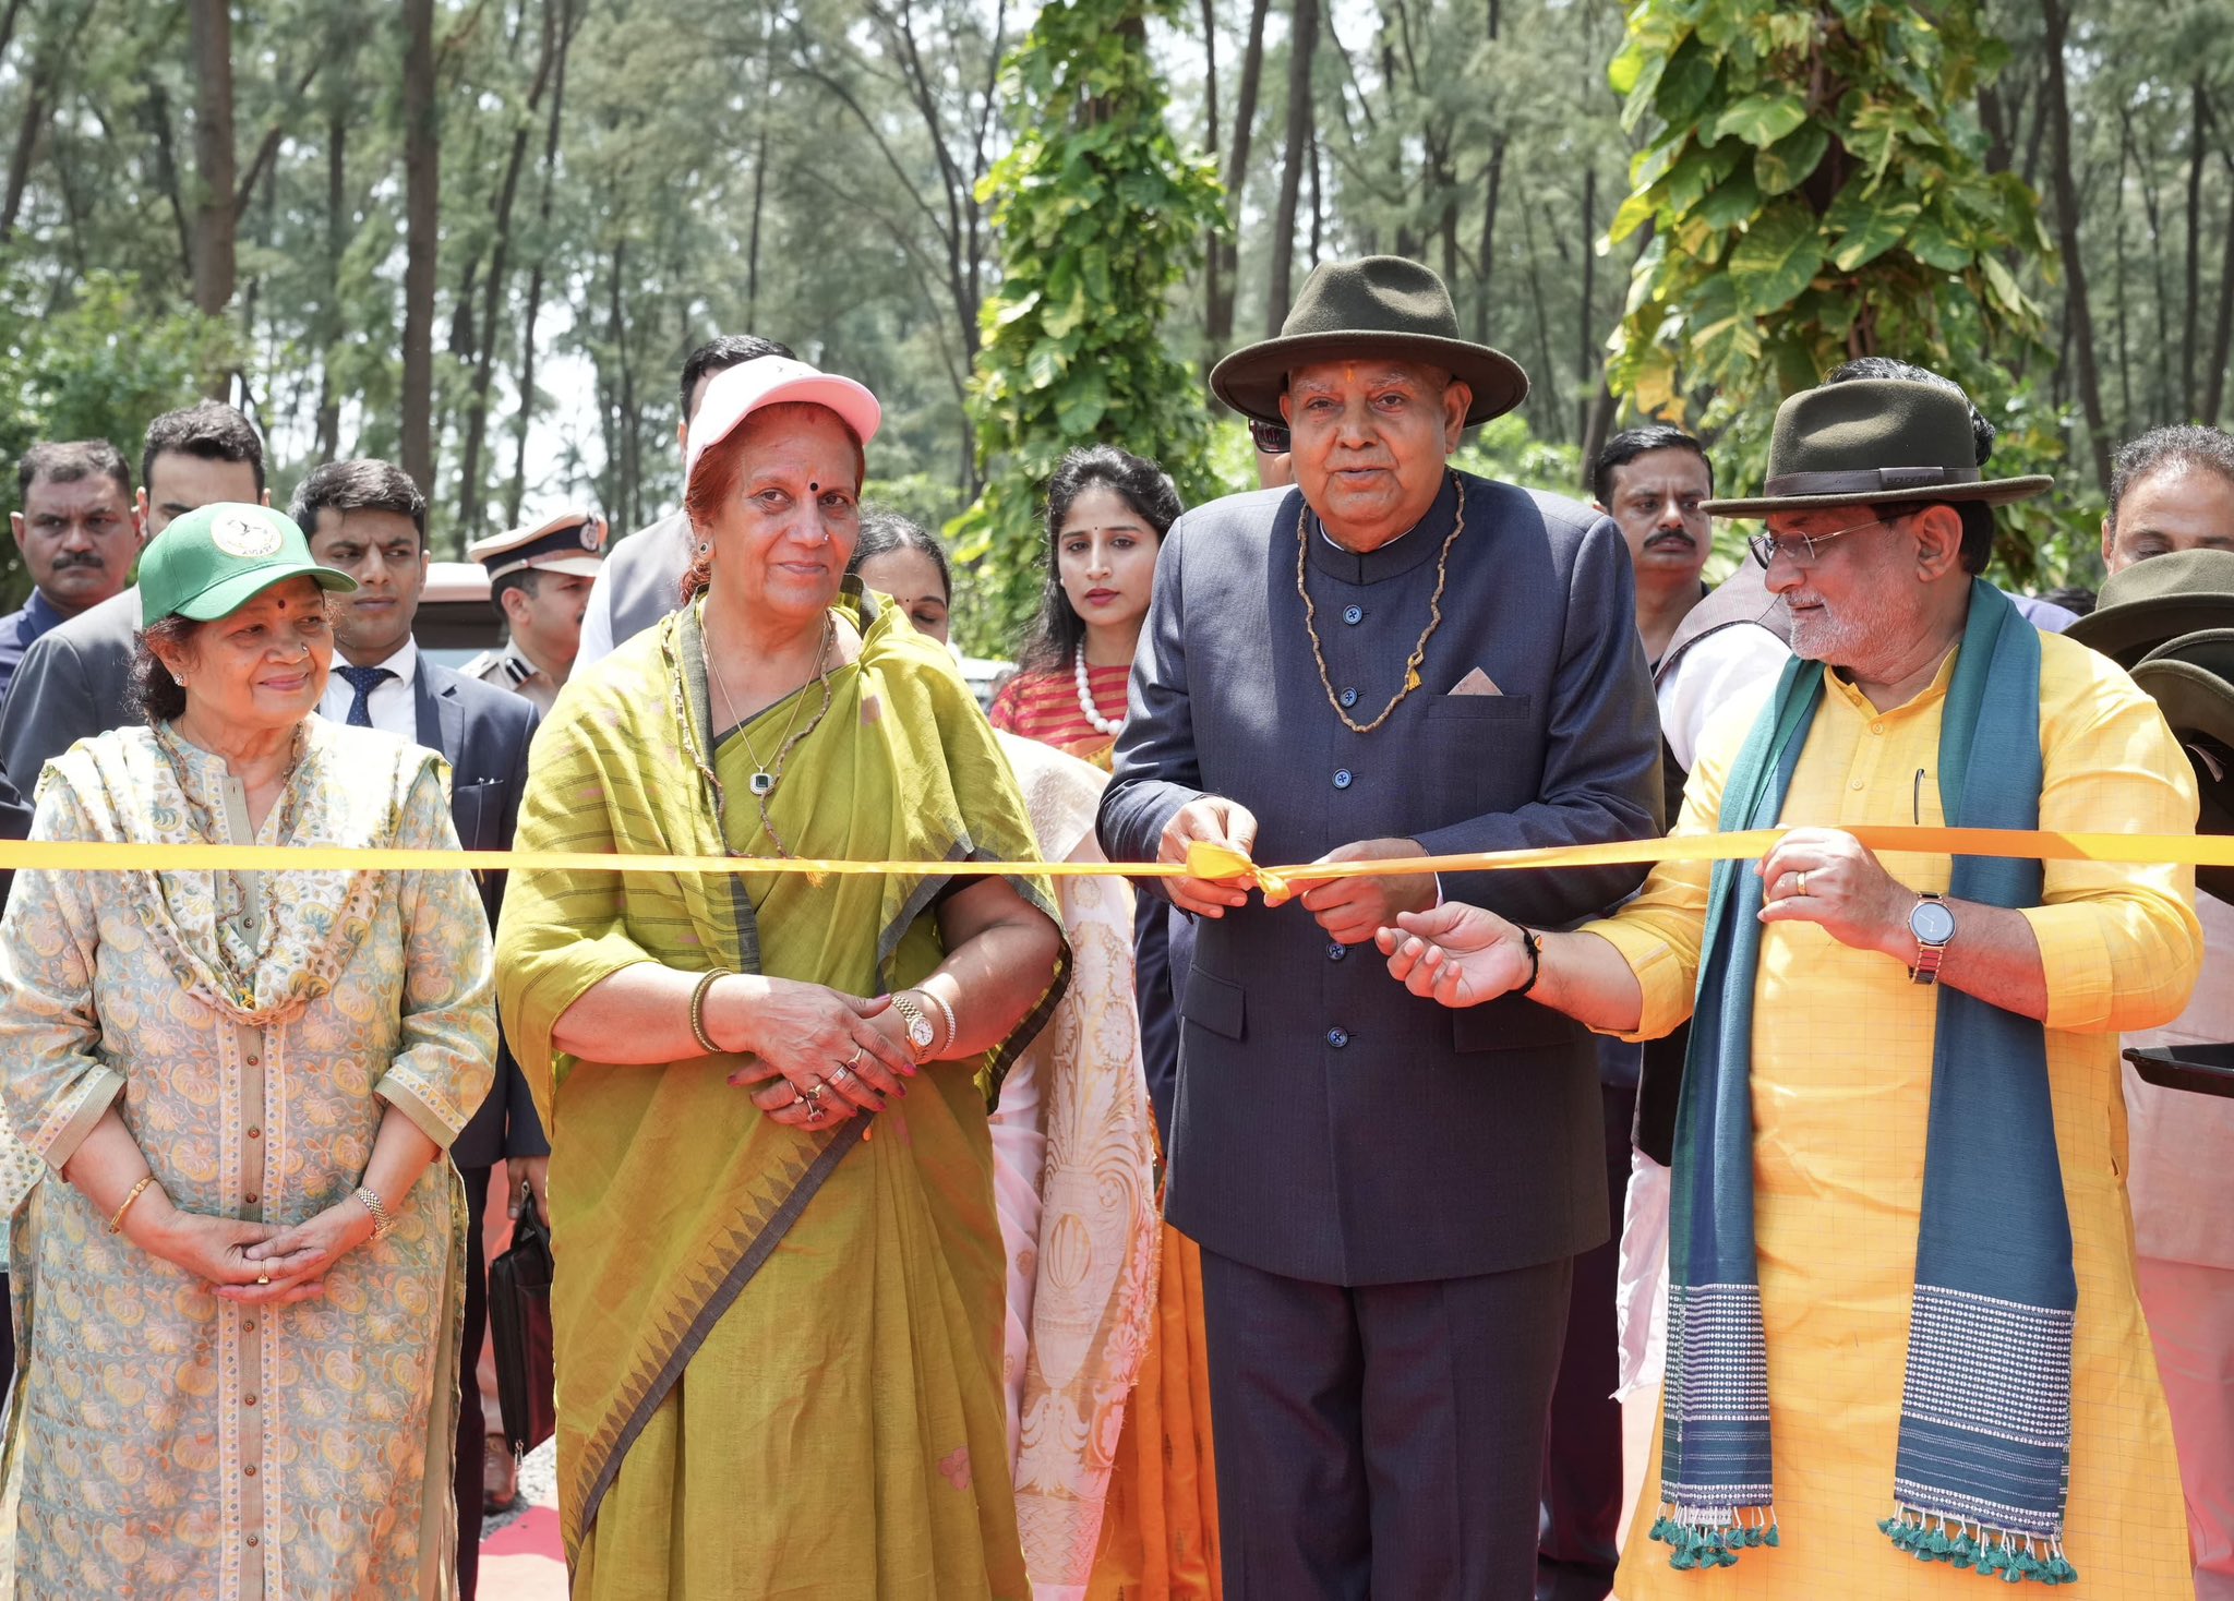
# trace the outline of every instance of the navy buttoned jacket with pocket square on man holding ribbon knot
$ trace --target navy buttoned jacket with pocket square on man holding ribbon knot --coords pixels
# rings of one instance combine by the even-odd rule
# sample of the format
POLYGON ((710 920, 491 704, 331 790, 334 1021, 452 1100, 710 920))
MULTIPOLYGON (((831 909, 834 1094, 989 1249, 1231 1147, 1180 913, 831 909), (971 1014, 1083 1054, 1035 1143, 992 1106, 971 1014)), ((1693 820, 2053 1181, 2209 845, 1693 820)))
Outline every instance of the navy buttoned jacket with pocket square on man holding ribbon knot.
MULTIPOLYGON (((1258 491, 1164 538, 1101 799, 1110 860, 1155 860, 1200 795, 1256 813, 1267 864, 1374 837, 1454 853, 1660 831, 1660 721, 1608 518, 1457 473, 1416 529, 1365 556, 1302 514, 1300 491, 1258 491), (1298 554, 1331 688, 1369 723, 1428 623, 1461 482, 1421 688, 1372 735, 1349 732, 1305 634, 1298 554), (1452 694, 1474 670, 1499 692, 1452 694)), ((1562 927, 1642 878, 1452 873, 1443 893, 1562 927)), ((1372 947, 1260 900, 1195 922, 1180 1018, 1168 1217, 1204 1248, 1298 1279, 1398 1284, 1606 1239, 1597 1054, 1577 1023, 1521 998, 1443 1009, 1372 947)))

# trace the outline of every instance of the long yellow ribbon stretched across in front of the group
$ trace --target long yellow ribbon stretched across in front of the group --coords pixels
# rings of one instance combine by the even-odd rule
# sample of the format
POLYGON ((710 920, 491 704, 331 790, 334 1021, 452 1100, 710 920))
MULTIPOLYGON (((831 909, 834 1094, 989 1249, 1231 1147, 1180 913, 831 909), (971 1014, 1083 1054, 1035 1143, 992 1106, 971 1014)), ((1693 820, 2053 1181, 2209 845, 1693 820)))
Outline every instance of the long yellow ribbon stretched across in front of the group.
MULTIPOLYGON (((1660 840, 1608 840, 1528 851, 1407 855, 1365 862, 1298 862, 1258 866, 1240 851, 1195 844, 1186 862, 833 862, 806 857, 726 855, 610 855, 599 851, 349 851, 342 846, 284 844, 76 844, 0 842, 0 871, 63 873, 424 873, 483 869, 496 873, 903 873, 914 878, 987 878, 1037 873, 1046 878, 1206 878, 1244 880, 1271 895, 1291 880, 1383 878, 1410 873, 1501 873, 1546 866, 1640 866, 1651 862, 1754 862, 1776 849, 1789 828, 1707 833, 1660 840)), ((2044 833, 2024 828, 1845 828, 1872 851, 1921 855, 1999 855, 2037 862, 2165 862, 2176 866, 2234 866, 2234 835, 2185 833, 2044 833)))

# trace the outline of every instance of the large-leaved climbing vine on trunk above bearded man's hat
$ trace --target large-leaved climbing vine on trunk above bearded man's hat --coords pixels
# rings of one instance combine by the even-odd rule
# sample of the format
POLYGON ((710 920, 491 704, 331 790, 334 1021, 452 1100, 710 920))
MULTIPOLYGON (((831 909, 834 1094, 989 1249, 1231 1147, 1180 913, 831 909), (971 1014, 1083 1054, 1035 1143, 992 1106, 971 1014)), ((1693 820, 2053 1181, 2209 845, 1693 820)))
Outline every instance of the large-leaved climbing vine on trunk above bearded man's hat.
POLYGON ((1854 355, 2006 389, 2042 313, 2004 255, 2051 252, 2033 192, 1968 116, 2002 47, 1977 0, 1629 0, 1611 83, 1651 127, 1608 230, 1651 226, 1608 382, 1705 429, 1854 355))

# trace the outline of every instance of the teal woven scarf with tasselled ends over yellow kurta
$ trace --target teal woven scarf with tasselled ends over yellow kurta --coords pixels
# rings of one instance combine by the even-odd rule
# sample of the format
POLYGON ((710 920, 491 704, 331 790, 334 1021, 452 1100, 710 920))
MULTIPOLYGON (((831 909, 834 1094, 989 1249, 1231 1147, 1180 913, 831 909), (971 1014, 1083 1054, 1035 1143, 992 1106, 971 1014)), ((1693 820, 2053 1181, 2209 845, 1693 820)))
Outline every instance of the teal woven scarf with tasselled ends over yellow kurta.
MULTIPOLYGON (((1823 703, 1823 663, 1792 661, 1722 795, 1720 826, 1778 826, 1823 703)), ((1950 824, 2040 824, 2040 636, 1973 583, 1939 730, 1950 824)), ((2037 907, 2040 864, 1957 857, 1955 900, 2037 907)), ((1760 873, 1720 862, 1676 1114, 1669 1360, 1653 1538, 1676 1568, 1776 1545, 1769 1364, 1754 1259, 1754 980, 1760 873)), ((2046 1034, 1939 987, 1901 1445, 1879 1527, 1921 1561, 2017 1583, 2078 1579, 2062 1552, 2071 1476, 2078 1282, 2046 1034), (1977 1130, 1993 1139, 1975 1139, 1977 1130)))

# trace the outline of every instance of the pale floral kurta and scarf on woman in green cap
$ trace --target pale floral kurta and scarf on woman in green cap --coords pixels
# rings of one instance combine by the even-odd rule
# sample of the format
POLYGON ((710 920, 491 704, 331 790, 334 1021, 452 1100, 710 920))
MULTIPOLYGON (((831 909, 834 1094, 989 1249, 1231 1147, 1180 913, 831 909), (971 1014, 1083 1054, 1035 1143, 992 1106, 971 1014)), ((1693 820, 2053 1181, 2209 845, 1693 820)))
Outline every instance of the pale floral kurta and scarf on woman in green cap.
MULTIPOLYGON (((440 757, 308 719, 259 835, 219 757, 130 728, 47 768, 36 840, 456 849, 440 757)), ((389 1105, 449 1145, 487 1094, 489 929, 465 871, 16 875, 0 1103, 60 1168, 116 1105, 172 1201, 297 1224, 362 1181, 389 1105)), ((297 1306, 221 1302, 58 1177, 16 1210, 18 1597, 449 1597, 465 1197, 297 1306), (20 1208, 20 1210, 18 1210, 20 1208), (25 1295, 25 1291, 31 1291, 25 1295)))

